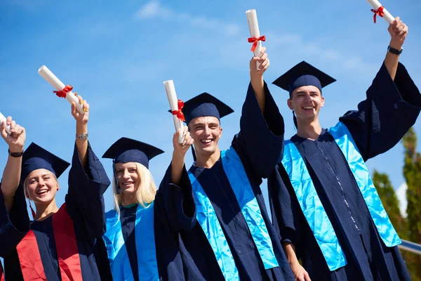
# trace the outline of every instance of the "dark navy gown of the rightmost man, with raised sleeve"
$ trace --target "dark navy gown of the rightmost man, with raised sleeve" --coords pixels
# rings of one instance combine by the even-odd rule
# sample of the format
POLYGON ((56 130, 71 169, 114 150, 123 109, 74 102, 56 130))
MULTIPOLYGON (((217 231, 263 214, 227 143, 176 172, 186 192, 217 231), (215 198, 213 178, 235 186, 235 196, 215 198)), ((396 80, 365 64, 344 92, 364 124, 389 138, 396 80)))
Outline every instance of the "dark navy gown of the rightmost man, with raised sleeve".
MULTIPOLYGON (((420 110, 420 91, 406 68, 399 64, 393 81, 382 65, 367 91, 366 100, 359 103, 358 110, 340 117, 340 121, 349 129, 366 161, 394 147, 413 126, 420 110)), ((398 247, 386 247, 378 235, 366 202, 333 137, 323 130, 316 141, 296 135, 291 141, 305 160, 347 259, 347 266, 330 272, 288 175, 279 164, 268 179, 272 221, 282 240, 295 245, 312 280, 410 280, 398 247)))

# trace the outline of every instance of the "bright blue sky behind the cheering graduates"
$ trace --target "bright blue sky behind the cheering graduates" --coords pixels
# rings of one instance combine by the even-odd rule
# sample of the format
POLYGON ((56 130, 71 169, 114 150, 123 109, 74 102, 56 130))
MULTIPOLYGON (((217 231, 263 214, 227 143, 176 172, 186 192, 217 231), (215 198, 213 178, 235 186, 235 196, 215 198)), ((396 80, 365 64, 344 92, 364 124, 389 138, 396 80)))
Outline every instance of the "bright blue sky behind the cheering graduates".
MULTIPOLYGON (((420 1, 384 0, 409 26, 401 62, 421 86, 420 1)), ((171 162, 173 121, 163 81, 173 79, 178 97, 188 100, 203 91, 232 106, 222 119, 221 148, 239 130, 241 105, 248 86, 252 53, 245 11, 255 8, 266 34, 271 66, 268 83, 306 60, 338 81, 323 92, 321 124, 333 126, 356 109, 385 57, 387 22, 377 19, 366 1, 0 1, 0 112, 27 129, 32 141, 71 161, 75 124, 70 105, 57 98, 37 70, 47 65, 65 84, 91 104, 89 139, 100 157, 121 136, 151 143, 166 151, 150 163, 159 184, 171 162), (338 4, 340 3, 340 4, 338 4)), ((270 85, 286 119, 286 137, 295 133, 286 106, 288 95, 270 85)), ((415 124, 421 139, 421 121, 415 124)), ((421 150, 421 141, 418 141, 421 150)), ((0 142, 0 170, 7 146, 0 142)), ((102 162, 112 176, 112 162, 102 162)), ((192 158, 187 157, 188 166, 192 158)), ((371 171, 403 183, 403 148, 370 159, 371 171)), ((64 201, 67 173, 58 204, 64 201)), ((262 185, 266 192, 266 185, 262 185)), ((109 189, 106 209, 112 208, 109 189)))

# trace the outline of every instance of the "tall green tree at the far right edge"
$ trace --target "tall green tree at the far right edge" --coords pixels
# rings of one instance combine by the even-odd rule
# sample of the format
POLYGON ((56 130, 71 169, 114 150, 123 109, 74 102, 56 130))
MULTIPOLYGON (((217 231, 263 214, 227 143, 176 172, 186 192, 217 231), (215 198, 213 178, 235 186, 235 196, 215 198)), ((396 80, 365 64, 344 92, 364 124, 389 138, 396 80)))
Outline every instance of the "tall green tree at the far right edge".
MULTIPOLYGON (((402 142, 405 151, 403 176, 408 185, 406 191, 408 238, 412 242, 421 244, 421 155, 417 152, 417 135, 413 128, 406 133, 402 142)), ((421 256, 408 253, 405 254, 405 258, 413 280, 421 280, 421 256)))

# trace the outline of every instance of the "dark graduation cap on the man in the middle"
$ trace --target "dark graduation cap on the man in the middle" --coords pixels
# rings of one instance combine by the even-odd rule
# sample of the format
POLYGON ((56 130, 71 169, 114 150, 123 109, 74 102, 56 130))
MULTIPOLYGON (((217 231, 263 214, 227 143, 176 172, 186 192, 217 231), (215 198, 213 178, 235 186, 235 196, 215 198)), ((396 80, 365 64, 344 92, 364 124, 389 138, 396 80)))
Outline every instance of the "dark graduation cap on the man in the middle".
POLYGON ((209 93, 201 93, 199 96, 187 100, 182 108, 186 124, 196 117, 213 116, 221 119, 232 112, 234 110, 231 107, 209 93))

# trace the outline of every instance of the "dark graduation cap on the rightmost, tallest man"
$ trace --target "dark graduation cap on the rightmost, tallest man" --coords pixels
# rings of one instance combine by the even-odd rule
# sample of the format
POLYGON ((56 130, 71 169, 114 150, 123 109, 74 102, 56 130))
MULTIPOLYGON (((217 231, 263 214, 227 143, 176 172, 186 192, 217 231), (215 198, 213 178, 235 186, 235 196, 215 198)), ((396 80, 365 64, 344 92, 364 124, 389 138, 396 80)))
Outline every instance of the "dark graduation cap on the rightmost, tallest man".
POLYGON ((291 94, 301 86, 315 86, 320 92, 323 87, 335 82, 336 79, 306 63, 304 60, 288 70, 281 77, 272 82, 291 94))

